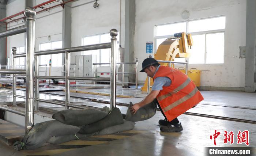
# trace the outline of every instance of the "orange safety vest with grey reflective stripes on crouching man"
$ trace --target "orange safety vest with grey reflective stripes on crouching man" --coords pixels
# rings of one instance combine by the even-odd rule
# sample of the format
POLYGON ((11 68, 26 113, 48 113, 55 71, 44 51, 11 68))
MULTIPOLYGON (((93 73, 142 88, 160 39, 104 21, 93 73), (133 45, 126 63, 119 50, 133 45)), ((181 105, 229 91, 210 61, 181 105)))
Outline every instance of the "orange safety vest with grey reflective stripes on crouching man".
POLYGON ((169 77, 171 85, 163 86, 157 100, 168 121, 172 121, 191 109, 204 98, 193 81, 181 71, 169 66, 160 66, 153 80, 157 77, 169 77))

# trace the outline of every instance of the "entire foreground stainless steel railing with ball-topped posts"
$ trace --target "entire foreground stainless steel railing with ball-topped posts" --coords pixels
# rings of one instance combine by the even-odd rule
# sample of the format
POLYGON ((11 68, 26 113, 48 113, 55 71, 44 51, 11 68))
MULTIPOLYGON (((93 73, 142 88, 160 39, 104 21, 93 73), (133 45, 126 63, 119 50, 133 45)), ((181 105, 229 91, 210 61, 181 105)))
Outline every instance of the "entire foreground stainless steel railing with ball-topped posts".
POLYGON ((25 132, 28 133, 29 130, 34 125, 34 110, 38 111, 38 102, 48 102, 52 103, 52 100, 44 100, 39 99, 39 83, 38 79, 65 79, 66 81, 66 91, 65 91, 65 103, 54 103, 65 106, 65 109, 69 107, 79 107, 74 104, 70 104, 70 82, 69 80, 101 80, 101 81, 110 81, 110 109, 116 107, 116 43, 117 43, 117 30, 110 30, 111 42, 110 43, 102 43, 96 45, 88 45, 88 46, 79 46, 79 47, 71 47, 64 49, 54 49, 54 50, 45 50, 40 52, 34 51, 35 44, 35 9, 31 7, 27 7, 24 11, 26 16, 26 26, 14 28, 11 30, 7 30, 4 32, 0 32, 0 38, 15 35, 23 32, 27 32, 26 35, 26 53, 16 54, 16 48, 12 48, 13 53, 13 69, 1 70, 0 73, 3 74, 13 74, 13 106, 16 106, 16 98, 24 98, 26 103, 25 113, 23 111, 19 111, 15 108, 9 106, 0 106, 0 109, 5 111, 10 111, 15 114, 25 116, 25 132), (70 72, 70 56, 72 52, 86 51, 86 50, 95 50, 95 49, 111 49, 111 77, 71 77, 70 72), (41 55, 47 54, 57 54, 57 53, 65 53, 65 76, 39 76, 38 71, 38 57, 41 55), (35 59, 34 59, 35 56, 35 59), (15 58, 18 57, 26 57, 26 70, 17 70, 15 64, 15 58), (33 66, 35 65, 35 72, 33 66), (35 73, 35 74, 34 74, 35 73), (19 75, 18 75, 19 74, 19 75), (26 75, 26 76, 22 76, 26 75), (16 95, 16 78, 17 77, 26 77, 26 96, 16 95), (34 83, 35 79, 35 83, 34 83), (35 85, 34 85, 35 84, 35 85), (35 86, 35 93, 34 93, 35 86), (35 104, 35 105, 34 105, 35 104), (34 109, 35 106, 35 109, 34 109))

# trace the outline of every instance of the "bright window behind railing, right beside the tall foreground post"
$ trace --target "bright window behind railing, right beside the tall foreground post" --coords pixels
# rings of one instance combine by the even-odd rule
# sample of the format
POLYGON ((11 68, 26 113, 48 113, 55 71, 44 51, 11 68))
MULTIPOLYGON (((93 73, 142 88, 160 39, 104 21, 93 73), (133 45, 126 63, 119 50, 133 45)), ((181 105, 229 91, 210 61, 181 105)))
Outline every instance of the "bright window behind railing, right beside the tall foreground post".
MULTIPOLYGON (((48 42, 39 44, 39 51, 50 50, 50 49, 59 49, 62 48, 62 41, 48 42)), ((47 64, 49 66, 49 61, 52 59, 52 66, 61 67, 62 64, 62 54, 50 54, 50 55, 41 55, 40 64, 47 64)))

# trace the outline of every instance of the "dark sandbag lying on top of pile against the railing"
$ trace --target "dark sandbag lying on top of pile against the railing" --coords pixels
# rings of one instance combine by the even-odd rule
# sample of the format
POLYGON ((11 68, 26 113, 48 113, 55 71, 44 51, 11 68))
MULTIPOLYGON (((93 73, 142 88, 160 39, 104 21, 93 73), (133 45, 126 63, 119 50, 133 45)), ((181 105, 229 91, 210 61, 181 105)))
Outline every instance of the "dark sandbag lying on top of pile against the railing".
POLYGON ((67 109, 54 113, 52 118, 67 125, 81 126, 99 121, 100 119, 105 118, 108 113, 109 109, 107 106, 103 107, 101 110, 94 108, 78 110, 67 109))

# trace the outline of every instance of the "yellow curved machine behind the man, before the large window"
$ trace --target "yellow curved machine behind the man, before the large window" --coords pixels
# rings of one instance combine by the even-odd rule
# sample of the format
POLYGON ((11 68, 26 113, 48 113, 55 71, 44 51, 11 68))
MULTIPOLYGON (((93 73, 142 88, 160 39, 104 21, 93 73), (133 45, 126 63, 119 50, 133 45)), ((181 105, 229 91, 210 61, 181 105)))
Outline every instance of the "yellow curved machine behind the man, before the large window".
MULTIPOLYGON (((175 58, 189 58, 189 50, 193 45, 193 39, 191 34, 185 32, 174 34, 174 37, 167 38, 159 45, 157 53, 154 54, 155 60, 174 61, 175 58)), ((161 65, 167 66, 168 63, 160 63, 161 65)), ((172 64, 174 67, 174 64, 172 64)), ((147 81, 142 87, 143 91, 147 91, 147 81)), ((153 79, 150 78, 150 86, 153 85, 153 79)))

